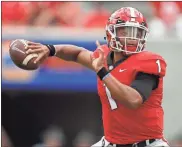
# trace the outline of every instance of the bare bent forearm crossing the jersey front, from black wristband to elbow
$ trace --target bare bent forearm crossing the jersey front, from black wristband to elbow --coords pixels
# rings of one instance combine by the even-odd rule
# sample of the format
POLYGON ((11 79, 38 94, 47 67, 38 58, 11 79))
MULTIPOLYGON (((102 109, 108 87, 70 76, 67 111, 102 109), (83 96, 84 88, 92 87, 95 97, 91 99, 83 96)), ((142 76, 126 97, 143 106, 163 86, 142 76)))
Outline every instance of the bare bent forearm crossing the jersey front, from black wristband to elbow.
POLYGON ((112 98, 126 107, 136 109, 142 104, 142 98, 135 89, 120 83, 111 74, 104 78, 103 82, 111 92, 112 98))

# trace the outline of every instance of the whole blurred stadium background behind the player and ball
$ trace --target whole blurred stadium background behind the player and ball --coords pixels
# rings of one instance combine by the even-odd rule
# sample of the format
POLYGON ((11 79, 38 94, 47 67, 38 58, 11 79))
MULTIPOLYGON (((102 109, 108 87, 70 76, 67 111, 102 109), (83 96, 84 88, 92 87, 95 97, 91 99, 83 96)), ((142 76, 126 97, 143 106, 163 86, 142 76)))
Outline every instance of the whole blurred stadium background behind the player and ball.
POLYGON ((94 72, 55 57, 36 71, 21 70, 9 57, 9 42, 22 38, 94 50, 96 39, 105 43, 107 18, 123 6, 135 7, 146 16, 151 30, 147 48, 168 62, 164 133, 173 146, 182 143, 182 2, 1 4, 3 145, 86 147, 100 139, 101 104, 94 72))

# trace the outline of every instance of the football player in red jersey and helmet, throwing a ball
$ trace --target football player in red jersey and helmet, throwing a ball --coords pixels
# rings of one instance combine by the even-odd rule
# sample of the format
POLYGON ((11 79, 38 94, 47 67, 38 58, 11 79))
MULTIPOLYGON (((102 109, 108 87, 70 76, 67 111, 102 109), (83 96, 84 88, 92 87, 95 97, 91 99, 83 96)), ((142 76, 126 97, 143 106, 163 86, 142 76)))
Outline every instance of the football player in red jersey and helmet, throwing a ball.
POLYGON ((145 49, 149 30, 138 10, 115 11, 106 25, 107 45, 91 52, 74 45, 28 42, 35 62, 49 56, 74 61, 97 73, 104 137, 93 147, 169 146, 163 136, 163 78, 166 62, 145 49))

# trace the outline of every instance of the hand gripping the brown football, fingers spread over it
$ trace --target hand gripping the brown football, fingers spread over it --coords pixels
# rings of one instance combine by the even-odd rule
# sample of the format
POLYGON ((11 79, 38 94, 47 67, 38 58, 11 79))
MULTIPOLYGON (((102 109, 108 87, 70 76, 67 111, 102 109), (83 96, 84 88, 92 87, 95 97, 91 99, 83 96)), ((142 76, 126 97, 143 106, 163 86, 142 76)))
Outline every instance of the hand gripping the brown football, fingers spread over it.
POLYGON ((32 53, 37 53, 38 57, 34 61, 34 63, 37 62, 43 62, 48 56, 49 56, 49 49, 46 45, 43 45, 41 43, 35 43, 31 41, 27 41, 27 48, 26 48, 26 54, 32 54, 32 53))

